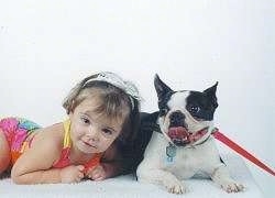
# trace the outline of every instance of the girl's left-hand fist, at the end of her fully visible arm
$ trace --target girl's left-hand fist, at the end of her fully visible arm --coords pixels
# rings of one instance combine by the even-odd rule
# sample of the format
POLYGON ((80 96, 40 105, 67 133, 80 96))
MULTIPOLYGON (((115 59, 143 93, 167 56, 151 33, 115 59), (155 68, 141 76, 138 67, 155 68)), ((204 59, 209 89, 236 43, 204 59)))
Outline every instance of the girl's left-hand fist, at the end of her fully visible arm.
POLYGON ((70 165, 62 168, 61 178, 62 183, 79 183, 84 178, 82 165, 70 165))

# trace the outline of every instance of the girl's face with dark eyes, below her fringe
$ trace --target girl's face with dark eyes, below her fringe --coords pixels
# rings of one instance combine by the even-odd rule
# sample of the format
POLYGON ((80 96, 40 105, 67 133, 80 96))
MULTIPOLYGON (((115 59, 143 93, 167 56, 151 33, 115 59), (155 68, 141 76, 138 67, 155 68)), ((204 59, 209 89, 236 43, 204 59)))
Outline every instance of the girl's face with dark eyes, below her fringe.
POLYGON ((119 136, 125 119, 99 117, 94 108, 95 101, 85 99, 69 113, 73 146, 84 153, 105 152, 119 136))

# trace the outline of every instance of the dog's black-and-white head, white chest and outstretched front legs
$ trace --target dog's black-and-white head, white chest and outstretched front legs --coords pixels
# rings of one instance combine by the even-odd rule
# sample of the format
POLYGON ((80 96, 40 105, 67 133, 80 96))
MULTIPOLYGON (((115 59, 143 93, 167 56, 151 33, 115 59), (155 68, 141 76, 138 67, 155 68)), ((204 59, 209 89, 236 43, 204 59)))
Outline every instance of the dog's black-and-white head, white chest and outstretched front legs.
POLYGON ((155 118, 160 132, 155 129, 152 134, 136 169, 138 180, 163 185, 169 193, 183 194, 187 190, 183 179, 204 174, 228 193, 243 190, 243 186, 230 177, 211 135, 218 107, 218 82, 202 92, 174 91, 157 75, 154 84, 160 111, 158 116, 152 114, 152 121, 155 118), (190 136, 201 130, 205 134, 190 142, 190 136))

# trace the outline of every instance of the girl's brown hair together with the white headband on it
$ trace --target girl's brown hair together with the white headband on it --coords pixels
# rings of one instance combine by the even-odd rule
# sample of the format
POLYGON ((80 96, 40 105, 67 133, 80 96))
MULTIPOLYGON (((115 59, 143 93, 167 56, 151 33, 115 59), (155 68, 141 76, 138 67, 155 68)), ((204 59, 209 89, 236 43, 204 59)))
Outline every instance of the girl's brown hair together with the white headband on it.
POLYGON ((113 73, 99 73, 77 84, 63 102, 67 113, 85 99, 95 99, 95 112, 108 119, 125 118, 119 140, 133 140, 140 124, 140 97, 136 87, 113 73))

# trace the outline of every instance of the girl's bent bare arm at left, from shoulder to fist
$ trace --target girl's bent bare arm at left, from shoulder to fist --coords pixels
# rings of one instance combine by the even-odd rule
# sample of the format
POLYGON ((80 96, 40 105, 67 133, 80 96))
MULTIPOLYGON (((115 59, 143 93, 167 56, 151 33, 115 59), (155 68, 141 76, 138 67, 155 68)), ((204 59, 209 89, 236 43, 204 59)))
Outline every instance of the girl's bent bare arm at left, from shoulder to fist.
POLYGON ((11 170, 12 180, 16 184, 74 183, 84 175, 82 166, 52 168, 59 158, 62 146, 56 131, 38 132, 31 148, 23 153, 11 170))

